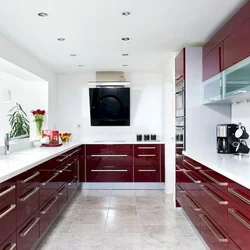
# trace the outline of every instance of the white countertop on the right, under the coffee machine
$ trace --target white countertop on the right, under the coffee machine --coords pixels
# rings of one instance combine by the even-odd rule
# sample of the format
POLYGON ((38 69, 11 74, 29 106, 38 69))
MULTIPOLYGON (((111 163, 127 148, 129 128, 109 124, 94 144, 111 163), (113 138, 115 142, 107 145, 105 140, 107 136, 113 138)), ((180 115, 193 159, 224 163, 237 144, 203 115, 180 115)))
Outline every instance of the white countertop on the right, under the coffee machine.
POLYGON ((183 151, 183 155, 250 189, 250 155, 239 157, 216 152, 190 151, 183 151))

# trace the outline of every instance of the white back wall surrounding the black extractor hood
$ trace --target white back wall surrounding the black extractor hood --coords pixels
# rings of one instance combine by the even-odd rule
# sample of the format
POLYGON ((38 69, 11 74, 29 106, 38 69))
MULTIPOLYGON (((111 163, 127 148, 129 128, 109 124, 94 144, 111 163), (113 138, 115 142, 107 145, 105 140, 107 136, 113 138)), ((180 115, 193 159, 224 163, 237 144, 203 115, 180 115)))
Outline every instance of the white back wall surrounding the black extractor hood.
POLYGON ((58 76, 59 129, 72 132, 74 139, 135 140, 137 133, 155 133, 163 139, 164 82, 161 74, 127 73, 131 82, 130 127, 91 127, 88 81, 95 73, 58 76), (81 127, 78 128, 78 125, 81 127))

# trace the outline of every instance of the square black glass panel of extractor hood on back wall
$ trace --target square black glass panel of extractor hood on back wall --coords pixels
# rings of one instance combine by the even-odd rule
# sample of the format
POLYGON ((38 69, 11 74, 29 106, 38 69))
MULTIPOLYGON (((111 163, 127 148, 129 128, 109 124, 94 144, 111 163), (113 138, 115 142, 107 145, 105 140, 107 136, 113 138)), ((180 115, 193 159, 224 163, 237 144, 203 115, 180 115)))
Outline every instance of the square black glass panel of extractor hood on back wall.
POLYGON ((130 88, 89 89, 91 126, 130 126, 130 88))

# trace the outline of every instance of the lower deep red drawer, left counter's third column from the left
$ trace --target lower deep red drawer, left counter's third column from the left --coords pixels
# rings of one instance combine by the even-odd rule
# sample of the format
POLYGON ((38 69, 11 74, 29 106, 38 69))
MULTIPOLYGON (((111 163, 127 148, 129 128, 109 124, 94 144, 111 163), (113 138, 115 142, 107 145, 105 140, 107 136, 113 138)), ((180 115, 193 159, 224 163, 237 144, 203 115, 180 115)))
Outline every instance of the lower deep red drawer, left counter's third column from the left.
POLYGON ((59 197, 56 195, 53 195, 48 202, 46 202, 41 208, 40 208, 40 235, 43 234, 43 232, 46 230, 48 225, 51 223, 51 221, 56 217, 58 212, 58 199, 59 197))

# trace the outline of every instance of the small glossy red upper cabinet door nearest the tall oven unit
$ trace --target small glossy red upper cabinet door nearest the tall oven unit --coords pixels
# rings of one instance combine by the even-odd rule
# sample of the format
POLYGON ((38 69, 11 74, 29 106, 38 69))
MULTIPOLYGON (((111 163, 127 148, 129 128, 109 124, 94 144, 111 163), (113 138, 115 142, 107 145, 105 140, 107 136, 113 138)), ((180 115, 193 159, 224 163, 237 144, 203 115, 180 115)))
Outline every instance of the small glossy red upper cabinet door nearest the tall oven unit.
POLYGON ((218 45, 202 59, 203 81, 219 74, 223 69, 223 44, 218 45))

